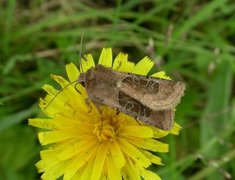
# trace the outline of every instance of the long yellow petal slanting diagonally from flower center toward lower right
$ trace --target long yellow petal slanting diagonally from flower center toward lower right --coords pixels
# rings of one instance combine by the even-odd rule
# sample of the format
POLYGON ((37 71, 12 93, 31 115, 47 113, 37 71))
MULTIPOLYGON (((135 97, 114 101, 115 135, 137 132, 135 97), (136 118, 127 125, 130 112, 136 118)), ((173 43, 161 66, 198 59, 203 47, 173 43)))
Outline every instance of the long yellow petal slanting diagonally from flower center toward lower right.
POLYGON ((127 154, 127 156, 131 157, 136 161, 136 163, 140 164, 140 166, 149 167, 151 164, 150 160, 146 158, 135 146, 121 138, 118 139, 118 142, 122 151, 127 154))

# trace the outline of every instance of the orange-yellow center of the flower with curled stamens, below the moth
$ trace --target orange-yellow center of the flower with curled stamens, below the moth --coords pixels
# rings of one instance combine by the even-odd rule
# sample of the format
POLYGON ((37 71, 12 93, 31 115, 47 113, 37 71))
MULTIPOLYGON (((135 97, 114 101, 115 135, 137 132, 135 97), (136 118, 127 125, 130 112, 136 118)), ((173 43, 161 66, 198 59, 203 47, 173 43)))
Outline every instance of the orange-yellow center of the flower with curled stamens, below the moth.
POLYGON ((95 123, 93 134, 99 141, 113 141, 120 131, 120 125, 115 115, 102 113, 102 117, 95 123))

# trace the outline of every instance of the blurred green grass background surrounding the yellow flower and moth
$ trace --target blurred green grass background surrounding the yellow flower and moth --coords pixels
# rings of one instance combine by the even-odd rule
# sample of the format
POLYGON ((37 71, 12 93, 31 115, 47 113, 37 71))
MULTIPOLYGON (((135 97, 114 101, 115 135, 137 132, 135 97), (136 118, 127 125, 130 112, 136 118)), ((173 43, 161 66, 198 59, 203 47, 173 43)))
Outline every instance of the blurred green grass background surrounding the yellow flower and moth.
MULTIPOLYGON (((41 146, 29 117, 41 116, 41 86, 102 47, 145 55, 187 85, 163 139, 163 179, 235 178, 235 2, 232 0, 0 1, 0 179, 39 179, 41 146)), ((58 86, 57 86, 58 87, 58 86)))

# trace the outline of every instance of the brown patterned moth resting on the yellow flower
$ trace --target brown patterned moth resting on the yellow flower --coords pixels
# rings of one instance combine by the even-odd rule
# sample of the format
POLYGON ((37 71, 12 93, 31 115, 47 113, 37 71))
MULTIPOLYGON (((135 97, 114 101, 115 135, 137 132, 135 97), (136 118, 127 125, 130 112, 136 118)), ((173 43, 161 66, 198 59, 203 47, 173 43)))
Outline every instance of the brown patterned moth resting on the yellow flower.
POLYGON ((182 82, 115 71, 97 65, 78 78, 97 106, 107 105, 163 130, 173 126, 174 110, 184 95, 182 82))

